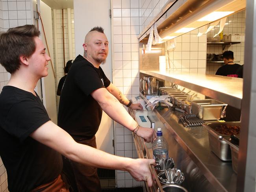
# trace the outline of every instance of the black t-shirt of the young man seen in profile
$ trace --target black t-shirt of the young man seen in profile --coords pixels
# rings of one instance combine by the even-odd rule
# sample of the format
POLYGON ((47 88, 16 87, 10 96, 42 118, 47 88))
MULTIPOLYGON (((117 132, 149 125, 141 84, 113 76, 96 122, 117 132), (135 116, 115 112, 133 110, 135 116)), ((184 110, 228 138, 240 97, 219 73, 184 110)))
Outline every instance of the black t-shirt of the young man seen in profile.
POLYGON ((61 155, 30 134, 50 120, 39 96, 5 86, 0 94, 0 156, 9 191, 30 191, 49 183, 62 170, 61 155))

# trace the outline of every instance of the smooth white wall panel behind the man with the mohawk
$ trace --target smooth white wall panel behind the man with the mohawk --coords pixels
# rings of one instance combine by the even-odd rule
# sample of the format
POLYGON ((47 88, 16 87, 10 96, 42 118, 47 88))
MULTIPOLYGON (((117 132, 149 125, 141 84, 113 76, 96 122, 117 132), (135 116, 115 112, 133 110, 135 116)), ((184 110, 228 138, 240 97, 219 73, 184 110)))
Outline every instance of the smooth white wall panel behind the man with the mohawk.
MULTIPOLYGON (((76 55, 83 55, 82 44, 87 32, 95 26, 102 26, 109 41, 109 52, 106 63, 101 67, 108 79, 112 81, 111 18, 109 18, 109 9, 111 9, 110 0, 74 1, 76 55)), ((103 113, 99 130, 96 133, 98 149, 114 154, 112 146, 113 132, 113 120, 106 113, 103 113)))

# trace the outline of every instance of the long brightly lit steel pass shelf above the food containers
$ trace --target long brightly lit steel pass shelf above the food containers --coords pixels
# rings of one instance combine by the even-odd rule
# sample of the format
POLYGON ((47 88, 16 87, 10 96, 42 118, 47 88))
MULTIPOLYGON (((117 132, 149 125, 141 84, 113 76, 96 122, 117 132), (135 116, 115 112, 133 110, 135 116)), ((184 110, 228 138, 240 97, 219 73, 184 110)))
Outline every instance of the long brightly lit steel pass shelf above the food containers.
POLYGON ((193 72, 172 72, 171 70, 161 72, 159 70, 140 70, 140 72, 181 85, 241 109, 241 100, 243 98, 243 79, 241 78, 193 72))

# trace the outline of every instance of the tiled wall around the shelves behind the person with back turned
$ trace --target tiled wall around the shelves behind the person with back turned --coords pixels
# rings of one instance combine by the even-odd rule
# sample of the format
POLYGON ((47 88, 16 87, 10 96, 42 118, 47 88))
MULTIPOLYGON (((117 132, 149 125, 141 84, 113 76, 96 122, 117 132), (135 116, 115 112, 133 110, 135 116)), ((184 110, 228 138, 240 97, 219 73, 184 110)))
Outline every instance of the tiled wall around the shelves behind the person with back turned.
MULTIPOLYGON (((219 32, 219 25, 213 28, 210 32, 208 32, 207 37, 213 37, 216 33, 219 32)), ((240 11, 239 13, 235 13, 227 17, 226 25, 223 29, 223 35, 230 34, 240 34, 245 35, 245 10, 240 11)), ((240 65, 244 64, 244 49, 245 42, 241 42, 240 44, 233 44, 231 46, 226 46, 224 50, 222 50, 221 45, 209 45, 207 46, 208 54, 222 54, 224 51, 230 50, 234 52, 234 61, 240 65)), ((207 63, 206 66, 206 74, 215 74, 219 67, 221 67, 222 63, 207 63)))

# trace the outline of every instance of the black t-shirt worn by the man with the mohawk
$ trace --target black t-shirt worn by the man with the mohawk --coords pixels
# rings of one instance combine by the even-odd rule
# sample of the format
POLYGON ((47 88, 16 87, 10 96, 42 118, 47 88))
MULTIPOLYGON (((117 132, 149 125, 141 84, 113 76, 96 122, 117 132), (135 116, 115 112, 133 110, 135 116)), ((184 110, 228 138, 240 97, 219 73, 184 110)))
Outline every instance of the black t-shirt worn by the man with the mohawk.
POLYGON ((91 93, 109 84, 101 67, 95 68, 82 55, 78 55, 61 91, 58 126, 74 140, 92 138, 98 131, 102 108, 91 93))

